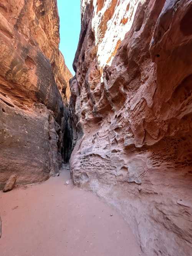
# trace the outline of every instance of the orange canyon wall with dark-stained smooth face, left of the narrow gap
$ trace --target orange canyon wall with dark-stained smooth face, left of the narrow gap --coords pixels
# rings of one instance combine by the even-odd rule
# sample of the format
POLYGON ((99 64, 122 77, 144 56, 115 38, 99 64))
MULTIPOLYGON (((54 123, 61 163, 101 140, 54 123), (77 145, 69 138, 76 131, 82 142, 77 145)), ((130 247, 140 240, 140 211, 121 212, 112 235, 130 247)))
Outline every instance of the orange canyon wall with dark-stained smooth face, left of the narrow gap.
POLYGON ((71 73, 55 0, 0 1, 0 188, 59 172, 71 73))

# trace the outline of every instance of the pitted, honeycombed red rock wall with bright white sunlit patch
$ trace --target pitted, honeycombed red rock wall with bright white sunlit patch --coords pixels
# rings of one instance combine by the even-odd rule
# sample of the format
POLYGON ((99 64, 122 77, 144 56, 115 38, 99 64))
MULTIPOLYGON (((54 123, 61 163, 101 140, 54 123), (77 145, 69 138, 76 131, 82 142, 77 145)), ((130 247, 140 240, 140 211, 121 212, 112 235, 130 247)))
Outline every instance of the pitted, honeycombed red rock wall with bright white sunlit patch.
POLYGON ((75 184, 146 255, 192 252, 192 1, 82 1, 71 79, 75 184))

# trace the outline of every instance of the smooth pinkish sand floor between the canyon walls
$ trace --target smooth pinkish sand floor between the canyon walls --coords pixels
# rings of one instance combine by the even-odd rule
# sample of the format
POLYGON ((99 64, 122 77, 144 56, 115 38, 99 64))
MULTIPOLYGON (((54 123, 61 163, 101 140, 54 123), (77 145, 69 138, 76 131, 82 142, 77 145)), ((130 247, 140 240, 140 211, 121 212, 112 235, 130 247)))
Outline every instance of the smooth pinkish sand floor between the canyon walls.
POLYGON ((0 255, 142 255, 122 216, 67 180, 63 170, 41 184, 0 192, 0 255))

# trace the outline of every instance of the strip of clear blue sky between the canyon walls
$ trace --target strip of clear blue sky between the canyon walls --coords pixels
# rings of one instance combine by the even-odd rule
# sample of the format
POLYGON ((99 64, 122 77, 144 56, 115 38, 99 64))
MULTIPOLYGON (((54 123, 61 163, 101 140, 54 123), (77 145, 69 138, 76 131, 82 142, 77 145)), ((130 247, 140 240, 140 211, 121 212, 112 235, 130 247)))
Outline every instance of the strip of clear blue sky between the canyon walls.
POLYGON ((71 73, 81 27, 80 0, 57 0, 60 15, 60 50, 71 73))

